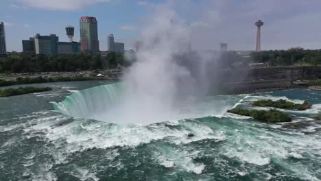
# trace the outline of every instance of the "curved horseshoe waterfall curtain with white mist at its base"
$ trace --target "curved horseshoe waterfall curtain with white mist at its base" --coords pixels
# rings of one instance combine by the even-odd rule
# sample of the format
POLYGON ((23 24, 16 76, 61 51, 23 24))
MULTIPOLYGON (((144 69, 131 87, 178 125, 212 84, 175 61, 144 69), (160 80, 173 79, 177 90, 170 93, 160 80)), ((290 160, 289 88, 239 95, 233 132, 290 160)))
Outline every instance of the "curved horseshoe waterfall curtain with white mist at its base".
MULTIPOLYGON (((142 102, 137 97, 126 97, 124 92, 131 90, 125 89, 123 83, 114 83, 85 90, 73 90, 73 93, 67 96, 64 101, 51 103, 55 110, 71 117, 95 119, 117 124, 146 124, 206 117, 223 114, 228 108, 224 101, 206 97, 206 101, 204 99, 180 101, 175 107, 171 107, 170 111, 163 110, 162 112, 160 107, 158 109, 152 107, 149 110, 141 110, 139 106, 146 108, 146 105, 141 105, 142 102)), ((150 104, 154 104, 154 102, 150 104)))

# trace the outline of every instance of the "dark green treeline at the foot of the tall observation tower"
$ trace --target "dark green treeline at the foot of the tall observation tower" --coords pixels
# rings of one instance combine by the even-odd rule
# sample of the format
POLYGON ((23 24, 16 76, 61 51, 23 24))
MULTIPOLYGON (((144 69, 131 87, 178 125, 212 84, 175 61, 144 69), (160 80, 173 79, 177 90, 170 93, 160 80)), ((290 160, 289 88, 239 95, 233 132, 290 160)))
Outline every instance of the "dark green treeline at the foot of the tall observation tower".
POLYGON ((321 49, 289 49, 252 52, 250 58, 252 62, 264 62, 268 63, 270 66, 317 66, 321 64, 321 49))

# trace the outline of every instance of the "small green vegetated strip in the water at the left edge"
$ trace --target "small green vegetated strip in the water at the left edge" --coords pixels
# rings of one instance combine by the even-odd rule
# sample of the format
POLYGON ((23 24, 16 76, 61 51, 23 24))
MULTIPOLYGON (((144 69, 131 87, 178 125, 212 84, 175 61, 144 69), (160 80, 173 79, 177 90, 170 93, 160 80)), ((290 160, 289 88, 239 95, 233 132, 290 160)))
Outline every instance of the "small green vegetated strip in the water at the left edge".
POLYGON ((9 97, 13 95, 23 95, 29 93, 38 93, 52 90, 50 87, 19 87, 19 88, 8 88, 5 90, 0 90, 0 97, 9 97))

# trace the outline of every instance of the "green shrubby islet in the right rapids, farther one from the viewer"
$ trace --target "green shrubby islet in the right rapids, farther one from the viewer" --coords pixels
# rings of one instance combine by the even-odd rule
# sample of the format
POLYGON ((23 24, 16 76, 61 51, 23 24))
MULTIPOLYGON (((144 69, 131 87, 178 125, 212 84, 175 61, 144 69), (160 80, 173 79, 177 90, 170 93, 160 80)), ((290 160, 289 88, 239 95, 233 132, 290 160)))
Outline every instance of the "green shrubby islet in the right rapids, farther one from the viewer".
POLYGON ((254 101, 253 106, 260 106, 260 107, 274 107, 274 108, 281 108, 281 109, 289 109, 289 110, 307 110, 311 108, 312 104, 308 101, 305 101, 303 104, 295 104, 291 101, 286 101, 280 99, 278 101, 268 100, 258 100, 254 101))

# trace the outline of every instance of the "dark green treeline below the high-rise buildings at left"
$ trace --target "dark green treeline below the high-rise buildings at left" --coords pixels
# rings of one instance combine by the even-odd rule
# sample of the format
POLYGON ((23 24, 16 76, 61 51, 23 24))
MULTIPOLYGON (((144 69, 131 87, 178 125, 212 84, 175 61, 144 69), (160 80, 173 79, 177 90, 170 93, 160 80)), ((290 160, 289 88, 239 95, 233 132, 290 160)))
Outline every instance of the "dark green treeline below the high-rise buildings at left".
POLYGON ((123 53, 112 52, 102 57, 97 54, 45 56, 14 53, 9 58, 0 58, 1 73, 87 71, 115 68, 118 65, 128 65, 123 53))

